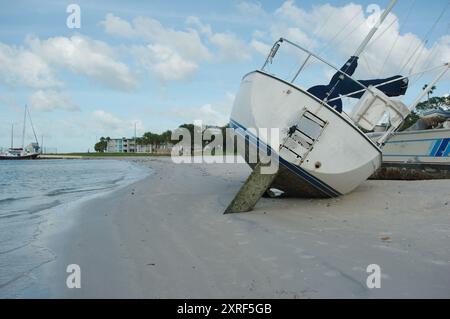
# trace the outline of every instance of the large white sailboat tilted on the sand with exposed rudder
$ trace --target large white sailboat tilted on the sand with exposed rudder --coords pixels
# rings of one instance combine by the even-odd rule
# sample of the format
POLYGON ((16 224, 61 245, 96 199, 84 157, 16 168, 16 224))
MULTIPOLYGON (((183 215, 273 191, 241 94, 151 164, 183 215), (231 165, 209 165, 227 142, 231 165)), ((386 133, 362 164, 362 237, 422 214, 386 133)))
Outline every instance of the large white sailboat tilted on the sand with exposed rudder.
POLYGON ((287 39, 279 39, 272 47, 261 70, 244 76, 236 95, 230 126, 237 129, 241 141, 238 152, 248 158, 249 152, 270 149, 279 161, 274 174, 262 174, 261 163, 250 163, 254 169, 225 213, 251 210, 269 188, 284 192, 284 196, 336 197, 347 194, 369 178, 382 162, 385 141, 403 123, 410 111, 444 75, 450 64, 433 83, 408 107, 392 96, 405 94, 408 77, 394 76, 382 80, 360 81, 352 78, 359 55, 378 26, 392 10, 391 1, 355 54, 338 69, 325 59, 287 39), (282 45, 302 51, 306 58, 300 63, 292 80, 266 72, 282 45), (304 89, 294 83, 310 60, 335 70, 328 85, 304 89), (351 114, 342 112, 341 98, 358 98, 351 114), (376 139, 363 131, 372 130, 384 116, 390 127, 376 139), (280 143, 270 145, 267 136, 257 136, 253 129, 278 128, 280 143))

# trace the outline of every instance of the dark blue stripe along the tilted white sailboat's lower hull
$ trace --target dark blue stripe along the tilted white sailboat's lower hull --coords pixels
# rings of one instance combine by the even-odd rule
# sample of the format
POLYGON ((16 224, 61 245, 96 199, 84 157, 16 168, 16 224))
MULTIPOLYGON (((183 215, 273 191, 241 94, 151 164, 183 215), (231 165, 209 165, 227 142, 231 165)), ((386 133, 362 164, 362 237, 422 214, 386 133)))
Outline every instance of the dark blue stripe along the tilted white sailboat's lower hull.
MULTIPOLYGON (((266 145, 257 136, 252 134, 250 131, 247 131, 247 129, 244 126, 242 126, 241 124, 239 124, 235 120, 230 119, 230 125, 233 128, 239 128, 239 129, 242 129, 243 131, 245 131, 246 136, 249 137, 249 142, 251 142, 253 145, 255 145, 257 147, 258 151, 259 151, 259 149, 264 148, 266 150, 269 149, 271 152, 273 152, 272 148, 269 145, 266 145)), ((237 133, 239 134, 239 131, 237 133)), ((242 136, 242 134, 240 134, 240 135, 242 136)), ((242 136, 242 137, 245 138, 245 136, 242 136)), ((335 190, 331 186, 325 184, 321 180, 317 179, 315 176, 311 175, 310 173, 308 173, 303 168, 286 161, 281 156, 279 156, 279 161, 280 161, 281 165, 283 165, 284 167, 289 169, 295 175, 297 175, 301 179, 305 180, 312 187, 314 187, 317 190, 323 192, 324 194, 326 194, 326 195, 328 195, 330 197, 337 197, 337 196, 342 195, 340 192, 338 192, 337 190, 335 190)))

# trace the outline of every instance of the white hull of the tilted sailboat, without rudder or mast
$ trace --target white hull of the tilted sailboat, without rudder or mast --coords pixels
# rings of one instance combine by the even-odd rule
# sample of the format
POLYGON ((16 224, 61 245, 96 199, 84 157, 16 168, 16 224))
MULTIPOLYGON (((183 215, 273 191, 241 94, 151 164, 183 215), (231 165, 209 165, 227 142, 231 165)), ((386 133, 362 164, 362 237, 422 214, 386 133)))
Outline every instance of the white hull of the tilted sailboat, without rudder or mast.
MULTIPOLYGON (((230 125, 243 130, 280 130, 280 147, 272 148, 280 162, 279 176, 273 187, 289 196, 347 194, 381 165, 381 150, 350 119, 308 92, 261 71, 243 78, 230 125), (307 128, 306 122, 313 123, 312 128, 307 128), (289 128, 293 126, 299 131, 289 137, 289 128), (306 144, 296 142, 303 141, 305 130, 315 134, 309 140, 311 146, 306 148, 303 147, 306 144)), ((248 131, 246 135, 253 150, 257 142, 268 143, 264 136, 257 137, 248 131)), ((238 136, 245 138, 243 134, 238 136)), ((239 145, 243 143, 238 143, 238 152, 245 156, 247 151, 239 145)))

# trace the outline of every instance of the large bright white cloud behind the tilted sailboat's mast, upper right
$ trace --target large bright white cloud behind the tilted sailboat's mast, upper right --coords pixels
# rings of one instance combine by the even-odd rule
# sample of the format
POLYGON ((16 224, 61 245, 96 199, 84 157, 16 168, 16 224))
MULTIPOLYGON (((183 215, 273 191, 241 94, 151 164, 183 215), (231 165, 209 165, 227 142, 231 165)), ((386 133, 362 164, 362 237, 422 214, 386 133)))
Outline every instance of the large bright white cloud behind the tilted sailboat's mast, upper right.
MULTIPOLYGON (((247 11, 250 16, 251 10, 247 11)), ((364 7, 354 3, 315 5, 305 9, 300 2, 288 0, 270 14, 268 39, 263 40, 264 31, 257 30, 251 46, 263 53, 264 45, 267 48, 279 37, 286 37, 315 53, 330 54, 344 61, 370 31, 368 22, 371 18, 366 15, 364 7)), ((400 71, 406 75, 444 63, 450 60, 449 39, 450 36, 444 35, 430 48, 417 35, 401 33, 398 17, 390 13, 364 51, 359 61, 358 76, 390 76, 400 71)))

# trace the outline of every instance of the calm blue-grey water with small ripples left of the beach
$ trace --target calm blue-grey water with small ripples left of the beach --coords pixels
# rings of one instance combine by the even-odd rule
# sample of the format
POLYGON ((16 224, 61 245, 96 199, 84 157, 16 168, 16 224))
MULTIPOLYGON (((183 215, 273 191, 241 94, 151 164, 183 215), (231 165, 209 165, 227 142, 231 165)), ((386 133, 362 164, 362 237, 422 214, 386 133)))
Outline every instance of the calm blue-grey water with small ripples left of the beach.
POLYGON ((26 289, 55 256, 36 244, 39 225, 81 198, 129 184, 148 169, 114 160, 0 161, 0 297, 26 289))

